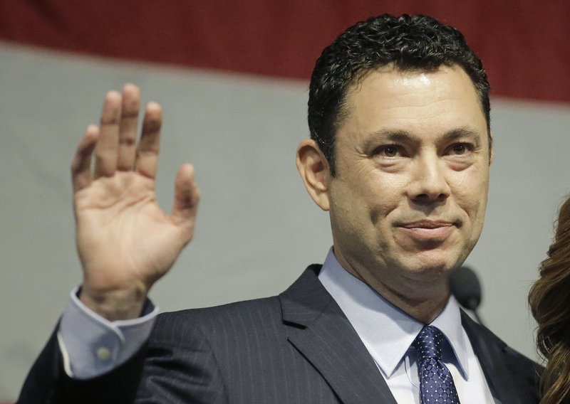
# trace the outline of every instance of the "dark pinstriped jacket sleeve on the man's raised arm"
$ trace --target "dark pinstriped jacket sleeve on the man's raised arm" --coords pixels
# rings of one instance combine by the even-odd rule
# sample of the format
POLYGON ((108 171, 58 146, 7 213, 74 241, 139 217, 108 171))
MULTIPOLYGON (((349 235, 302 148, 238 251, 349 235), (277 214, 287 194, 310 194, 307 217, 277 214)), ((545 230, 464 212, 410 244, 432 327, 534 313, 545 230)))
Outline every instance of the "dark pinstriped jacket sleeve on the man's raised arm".
POLYGON ((133 358, 85 381, 67 376, 54 331, 28 373, 18 403, 227 403, 216 358, 199 324, 157 325, 133 358))

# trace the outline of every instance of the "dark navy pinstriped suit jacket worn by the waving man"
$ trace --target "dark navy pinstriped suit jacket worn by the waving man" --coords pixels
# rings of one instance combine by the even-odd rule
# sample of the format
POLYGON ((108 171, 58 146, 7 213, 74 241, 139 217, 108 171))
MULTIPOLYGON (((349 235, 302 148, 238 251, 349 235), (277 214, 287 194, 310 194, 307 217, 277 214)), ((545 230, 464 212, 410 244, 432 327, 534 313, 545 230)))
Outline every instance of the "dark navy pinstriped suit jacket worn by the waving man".
MULTIPOLYGON (((311 265, 278 297, 161 314, 133 360, 90 381, 65 376, 52 336, 19 402, 395 404, 319 270, 311 265)), ((539 366, 462 321, 494 397, 538 403, 539 366)))

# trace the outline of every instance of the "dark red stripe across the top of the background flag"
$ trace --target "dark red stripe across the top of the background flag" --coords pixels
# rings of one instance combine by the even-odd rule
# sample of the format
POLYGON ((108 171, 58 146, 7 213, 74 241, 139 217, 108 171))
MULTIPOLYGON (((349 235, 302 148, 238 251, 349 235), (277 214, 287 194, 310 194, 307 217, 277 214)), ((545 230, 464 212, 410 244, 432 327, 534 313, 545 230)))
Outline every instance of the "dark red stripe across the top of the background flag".
POLYGON ((423 13, 465 34, 493 95, 570 102, 570 2, 0 0, 0 38, 113 58, 289 78, 367 16, 423 13))

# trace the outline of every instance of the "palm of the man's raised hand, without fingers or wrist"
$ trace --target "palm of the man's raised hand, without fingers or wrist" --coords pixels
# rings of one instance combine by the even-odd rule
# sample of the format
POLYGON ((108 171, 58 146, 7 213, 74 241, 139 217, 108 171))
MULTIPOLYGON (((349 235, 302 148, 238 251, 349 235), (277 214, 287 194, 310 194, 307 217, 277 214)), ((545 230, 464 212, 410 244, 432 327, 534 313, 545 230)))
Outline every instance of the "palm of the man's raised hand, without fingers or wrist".
POLYGON ((190 240, 190 226, 160 209, 154 186, 145 176, 118 171, 76 193, 76 241, 91 287, 137 285, 147 292, 190 240))

